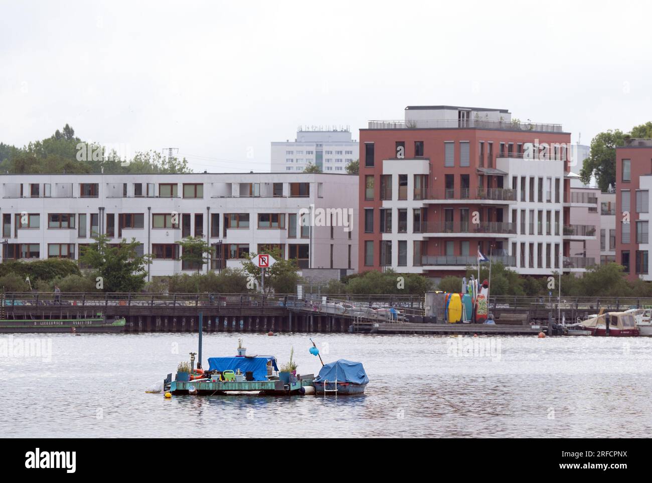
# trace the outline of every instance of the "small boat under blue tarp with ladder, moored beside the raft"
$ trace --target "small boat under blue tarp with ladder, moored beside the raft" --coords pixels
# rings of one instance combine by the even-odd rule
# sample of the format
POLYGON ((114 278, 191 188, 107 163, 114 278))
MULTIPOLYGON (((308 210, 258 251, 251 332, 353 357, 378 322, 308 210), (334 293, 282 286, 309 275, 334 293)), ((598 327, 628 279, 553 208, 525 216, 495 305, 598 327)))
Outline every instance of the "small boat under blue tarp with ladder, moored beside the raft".
POLYGON ((317 394, 363 394, 369 383, 362 362, 340 359, 324 364, 312 381, 317 394))

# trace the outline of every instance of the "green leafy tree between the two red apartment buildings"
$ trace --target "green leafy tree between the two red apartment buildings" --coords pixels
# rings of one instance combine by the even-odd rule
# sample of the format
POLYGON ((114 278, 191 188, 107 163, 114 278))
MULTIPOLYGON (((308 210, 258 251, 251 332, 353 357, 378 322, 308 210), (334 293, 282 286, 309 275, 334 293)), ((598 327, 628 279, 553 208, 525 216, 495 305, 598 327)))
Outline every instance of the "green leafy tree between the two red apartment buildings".
POLYGON ((589 157, 584 160, 580 171, 583 183, 589 183, 591 175, 602 191, 607 191, 609 185, 615 186, 615 147, 625 144, 625 134, 619 129, 600 132, 591 140, 589 157))

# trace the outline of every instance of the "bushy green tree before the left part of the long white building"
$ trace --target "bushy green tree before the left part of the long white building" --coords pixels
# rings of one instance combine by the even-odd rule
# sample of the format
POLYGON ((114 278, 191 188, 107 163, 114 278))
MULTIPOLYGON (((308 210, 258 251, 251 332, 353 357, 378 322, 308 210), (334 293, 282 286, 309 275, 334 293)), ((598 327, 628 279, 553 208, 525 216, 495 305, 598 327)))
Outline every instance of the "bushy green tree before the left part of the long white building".
POLYGON ((80 261, 95 270, 100 288, 105 292, 139 292, 145 286, 146 267, 151 255, 138 255, 140 243, 125 238, 111 245, 106 235, 99 235, 80 254, 80 261))

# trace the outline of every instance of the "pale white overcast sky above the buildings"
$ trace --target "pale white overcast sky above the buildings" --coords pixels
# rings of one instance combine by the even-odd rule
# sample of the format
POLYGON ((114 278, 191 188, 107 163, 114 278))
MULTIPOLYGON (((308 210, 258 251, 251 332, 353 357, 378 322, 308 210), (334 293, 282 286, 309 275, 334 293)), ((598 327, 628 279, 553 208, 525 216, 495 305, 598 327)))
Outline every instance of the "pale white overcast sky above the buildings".
POLYGON ((506 108, 572 140, 652 120, 647 2, 0 0, 0 141, 69 123, 197 171, 269 170, 298 125, 506 108))

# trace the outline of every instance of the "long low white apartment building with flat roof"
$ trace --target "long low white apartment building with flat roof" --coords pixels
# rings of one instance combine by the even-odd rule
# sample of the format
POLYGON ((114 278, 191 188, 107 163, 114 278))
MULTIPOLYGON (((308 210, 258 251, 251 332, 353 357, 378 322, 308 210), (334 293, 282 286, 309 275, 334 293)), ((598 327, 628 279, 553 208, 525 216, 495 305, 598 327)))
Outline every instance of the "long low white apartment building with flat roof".
POLYGON ((101 233, 113 243, 136 238, 141 253, 155 257, 150 276, 196 270, 179 260, 176 242, 187 236, 203 237, 215 247, 210 266, 203 270, 241 266, 246 254, 269 246, 280 249, 284 258, 297 260, 304 272, 336 268, 350 273, 357 268, 357 176, 4 174, 1 178, 3 260, 78 259, 80 247, 101 233))

